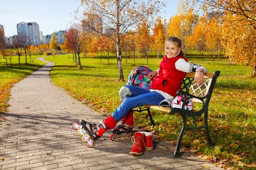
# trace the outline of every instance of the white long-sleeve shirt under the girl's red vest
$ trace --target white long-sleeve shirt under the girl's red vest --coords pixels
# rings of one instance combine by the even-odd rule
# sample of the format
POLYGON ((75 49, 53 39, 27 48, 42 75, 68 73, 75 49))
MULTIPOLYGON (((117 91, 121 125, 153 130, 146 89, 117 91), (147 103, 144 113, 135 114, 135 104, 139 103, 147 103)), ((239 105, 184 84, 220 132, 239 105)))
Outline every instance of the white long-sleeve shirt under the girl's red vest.
MULTIPOLYGON (((201 65, 196 65, 194 63, 186 62, 185 59, 178 59, 175 62, 175 68, 179 71, 183 71, 185 73, 193 73, 196 72, 199 68, 204 70, 204 73, 207 73, 207 69, 204 66, 201 65)), ((157 70, 157 75, 158 75, 159 69, 157 70)), ((168 93, 165 93, 160 90, 153 90, 150 89, 150 91, 156 91, 157 93, 160 93, 164 98, 166 99, 174 99, 174 96, 169 95, 168 93)))

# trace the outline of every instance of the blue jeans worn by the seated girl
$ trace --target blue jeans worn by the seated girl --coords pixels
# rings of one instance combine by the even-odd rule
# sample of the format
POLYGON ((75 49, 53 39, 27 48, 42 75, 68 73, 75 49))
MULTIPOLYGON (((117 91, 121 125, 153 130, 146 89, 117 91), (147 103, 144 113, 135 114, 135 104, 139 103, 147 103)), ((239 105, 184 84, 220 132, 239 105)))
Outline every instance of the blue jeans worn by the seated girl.
POLYGON ((151 92, 148 89, 133 85, 125 85, 125 87, 130 89, 131 96, 127 96, 127 98, 122 101, 119 108, 116 108, 111 114, 116 122, 122 120, 131 109, 143 105, 159 105, 160 102, 165 99, 161 94, 155 91, 151 92))

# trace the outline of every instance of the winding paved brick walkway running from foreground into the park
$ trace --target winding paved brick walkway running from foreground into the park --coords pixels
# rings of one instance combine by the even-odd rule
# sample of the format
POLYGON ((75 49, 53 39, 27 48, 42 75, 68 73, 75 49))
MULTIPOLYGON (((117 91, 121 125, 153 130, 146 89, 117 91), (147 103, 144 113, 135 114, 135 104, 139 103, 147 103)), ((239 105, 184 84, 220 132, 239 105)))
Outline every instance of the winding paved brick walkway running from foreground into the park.
POLYGON ((175 146, 166 142, 155 141, 153 151, 131 156, 131 139, 111 141, 111 131, 88 148, 72 124, 97 123, 103 116, 50 83, 53 65, 47 62, 11 89, 9 112, 0 116, 0 170, 221 169, 189 152, 172 159, 175 146))

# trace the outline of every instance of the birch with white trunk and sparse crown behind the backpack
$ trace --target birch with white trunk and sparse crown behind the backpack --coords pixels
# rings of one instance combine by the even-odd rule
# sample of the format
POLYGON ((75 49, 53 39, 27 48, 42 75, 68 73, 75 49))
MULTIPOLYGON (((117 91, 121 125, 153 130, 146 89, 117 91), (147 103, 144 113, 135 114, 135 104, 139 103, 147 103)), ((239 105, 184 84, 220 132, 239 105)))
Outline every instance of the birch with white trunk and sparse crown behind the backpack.
POLYGON ((148 20, 150 23, 163 5, 164 3, 160 3, 159 0, 81 0, 81 6, 84 7, 84 27, 88 31, 93 30, 97 34, 108 36, 116 44, 120 81, 124 81, 121 55, 123 47, 121 37, 124 36, 122 35, 129 28, 135 28, 141 20, 148 20), (95 20, 98 22, 92 22, 95 20), (102 31, 103 27, 112 31, 113 36, 102 31))

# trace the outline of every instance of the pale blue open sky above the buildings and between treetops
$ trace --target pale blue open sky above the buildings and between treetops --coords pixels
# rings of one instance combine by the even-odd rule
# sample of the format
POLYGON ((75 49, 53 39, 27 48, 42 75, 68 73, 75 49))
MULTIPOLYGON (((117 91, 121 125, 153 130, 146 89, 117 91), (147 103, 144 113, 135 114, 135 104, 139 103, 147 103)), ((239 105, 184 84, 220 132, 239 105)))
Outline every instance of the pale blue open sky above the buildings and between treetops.
MULTIPOLYGON (((167 5, 163 8, 166 13, 161 17, 175 15, 178 1, 166 0, 167 5)), ((6 37, 17 35, 16 26, 21 22, 36 22, 43 35, 52 34, 70 27, 79 3, 80 0, 4 0, 0 5, 0 24, 6 37)))

